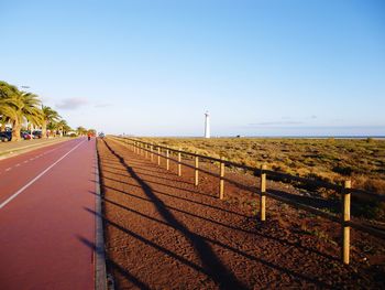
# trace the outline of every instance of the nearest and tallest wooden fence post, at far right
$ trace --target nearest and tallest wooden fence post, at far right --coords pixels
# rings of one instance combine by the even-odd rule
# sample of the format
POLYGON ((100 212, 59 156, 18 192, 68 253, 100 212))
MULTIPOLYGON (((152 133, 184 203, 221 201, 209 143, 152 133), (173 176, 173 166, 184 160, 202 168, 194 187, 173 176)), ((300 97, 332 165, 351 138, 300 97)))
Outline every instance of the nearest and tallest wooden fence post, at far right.
POLYGON ((345 180, 342 190, 342 261, 345 265, 350 262, 350 189, 352 182, 345 180))

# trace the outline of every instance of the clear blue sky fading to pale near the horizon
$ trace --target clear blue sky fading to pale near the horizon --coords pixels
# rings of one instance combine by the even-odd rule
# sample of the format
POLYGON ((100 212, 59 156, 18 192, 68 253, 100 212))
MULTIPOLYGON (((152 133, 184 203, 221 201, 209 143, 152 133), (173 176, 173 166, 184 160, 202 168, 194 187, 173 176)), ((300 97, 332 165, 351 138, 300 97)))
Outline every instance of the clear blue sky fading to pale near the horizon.
POLYGON ((385 1, 0 0, 0 79, 109 133, 385 135, 385 1))

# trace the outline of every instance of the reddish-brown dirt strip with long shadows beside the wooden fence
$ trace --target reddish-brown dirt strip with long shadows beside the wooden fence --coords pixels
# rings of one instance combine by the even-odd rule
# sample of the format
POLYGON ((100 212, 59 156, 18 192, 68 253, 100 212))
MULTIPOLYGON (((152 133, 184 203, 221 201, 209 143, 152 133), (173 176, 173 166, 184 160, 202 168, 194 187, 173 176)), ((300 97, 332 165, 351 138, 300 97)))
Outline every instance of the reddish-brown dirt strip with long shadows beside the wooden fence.
MULTIPOLYGON (((340 262, 338 224, 176 165, 165 170, 110 139, 98 140, 108 272, 117 289, 384 289, 384 241, 352 230, 340 262), (250 202, 252 201, 252 202, 250 202)), ((241 174, 231 179, 244 183, 241 174)), ((284 190, 283 184, 270 187, 284 190)), ((287 189, 290 192, 290 189, 287 189)))

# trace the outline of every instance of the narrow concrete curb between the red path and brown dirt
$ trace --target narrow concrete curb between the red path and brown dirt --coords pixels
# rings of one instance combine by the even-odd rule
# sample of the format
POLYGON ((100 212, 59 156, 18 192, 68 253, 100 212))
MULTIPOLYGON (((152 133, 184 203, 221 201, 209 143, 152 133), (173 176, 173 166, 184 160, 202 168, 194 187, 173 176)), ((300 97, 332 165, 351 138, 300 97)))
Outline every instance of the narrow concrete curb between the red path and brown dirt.
POLYGON ((106 255, 105 255, 105 238, 103 238, 103 221, 101 213, 101 195, 100 195, 100 178, 99 178, 99 153, 98 146, 96 146, 96 167, 95 167, 95 192, 96 192, 96 206, 95 210, 96 221, 95 221, 95 238, 96 238, 96 249, 95 249, 95 289, 106 290, 107 289, 107 273, 106 273, 106 255))

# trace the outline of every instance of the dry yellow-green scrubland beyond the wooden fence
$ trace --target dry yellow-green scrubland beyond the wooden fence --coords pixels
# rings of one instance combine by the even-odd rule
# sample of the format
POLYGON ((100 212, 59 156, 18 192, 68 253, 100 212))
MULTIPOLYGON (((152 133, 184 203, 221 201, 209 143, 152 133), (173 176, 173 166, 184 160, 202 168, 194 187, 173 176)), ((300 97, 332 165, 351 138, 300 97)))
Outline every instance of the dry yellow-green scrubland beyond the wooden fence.
MULTIPOLYGON (((262 138, 142 138, 202 155, 224 157, 241 164, 342 183, 351 179, 355 189, 385 194, 385 141, 375 139, 262 139, 262 138)), ((338 195, 317 189, 322 197, 338 195)), ((361 200, 359 215, 383 219, 385 206, 361 200), (364 201, 364 202, 362 202, 364 201)))

